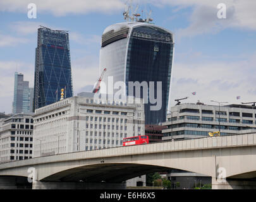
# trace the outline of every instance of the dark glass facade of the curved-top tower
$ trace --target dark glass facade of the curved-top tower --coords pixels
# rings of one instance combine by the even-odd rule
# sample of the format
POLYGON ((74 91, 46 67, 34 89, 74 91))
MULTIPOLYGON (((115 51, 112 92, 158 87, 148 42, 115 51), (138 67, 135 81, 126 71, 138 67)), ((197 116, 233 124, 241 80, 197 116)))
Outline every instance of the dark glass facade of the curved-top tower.
MULTIPOLYGON (((166 121, 166 110, 169 98, 171 66, 173 60, 173 41, 171 33, 156 27, 136 27, 128 44, 126 61, 126 86, 129 81, 154 82, 151 88, 154 98, 157 97, 157 81, 162 82, 162 100, 160 110, 150 110, 151 105, 145 104, 145 124, 155 124, 166 121), (153 92, 154 90, 154 92, 153 92)), ((140 98, 143 97, 142 87, 140 98)), ((130 89, 129 89, 130 90, 130 89)), ((133 95, 135 87, 133 88, 133 95)))

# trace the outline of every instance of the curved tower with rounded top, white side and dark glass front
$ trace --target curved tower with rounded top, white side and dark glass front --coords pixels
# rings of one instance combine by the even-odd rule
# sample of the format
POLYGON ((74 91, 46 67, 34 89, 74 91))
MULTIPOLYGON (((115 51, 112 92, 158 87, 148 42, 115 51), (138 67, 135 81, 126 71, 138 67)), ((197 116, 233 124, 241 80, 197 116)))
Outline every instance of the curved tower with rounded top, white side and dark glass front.
MULTIPOLYGON (((100 68, 101 71, 107 68, 102 80, 106 85, 109 76, 113 76, 114 83, 125 82, 128 95, 129 81, 147 82, 148 88, 149 82, 154 81, 154 97, 157 98, 157 81, 161 81, 161 109, 151 110, 150 106, 155 104, 145 104, 145 124, 166 121, 173 49, 173 33, 149 23, 117 23, 107 27, 102 35, 100 68)), ((148 94, 149 91, 152 89, 148 94)), ((138 97, 135 91, 133 96, 138 97)), ((142 91, 139 96, 142 98, 142 91)))

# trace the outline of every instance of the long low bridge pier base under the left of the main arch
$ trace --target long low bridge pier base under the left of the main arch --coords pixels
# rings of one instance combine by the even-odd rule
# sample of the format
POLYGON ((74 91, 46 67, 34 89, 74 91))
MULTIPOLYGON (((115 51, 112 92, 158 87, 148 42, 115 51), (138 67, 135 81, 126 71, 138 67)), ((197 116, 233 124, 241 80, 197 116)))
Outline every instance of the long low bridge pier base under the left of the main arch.
POLYGON ((126 189, 126 182, 33 182, 32 189, 126 189))

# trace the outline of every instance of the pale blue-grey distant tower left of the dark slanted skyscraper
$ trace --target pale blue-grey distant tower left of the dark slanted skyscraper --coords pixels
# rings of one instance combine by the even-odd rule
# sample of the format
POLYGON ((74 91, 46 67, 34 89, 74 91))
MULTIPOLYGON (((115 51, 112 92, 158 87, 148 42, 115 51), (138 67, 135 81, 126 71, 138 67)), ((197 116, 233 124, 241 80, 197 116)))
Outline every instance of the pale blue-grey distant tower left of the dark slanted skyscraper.
POLYGON ((13 114, 29 113, 30 102, 32 102, 29 82, 23 80, 23 74, 15 72, 15 85, 13 94, 13 114))

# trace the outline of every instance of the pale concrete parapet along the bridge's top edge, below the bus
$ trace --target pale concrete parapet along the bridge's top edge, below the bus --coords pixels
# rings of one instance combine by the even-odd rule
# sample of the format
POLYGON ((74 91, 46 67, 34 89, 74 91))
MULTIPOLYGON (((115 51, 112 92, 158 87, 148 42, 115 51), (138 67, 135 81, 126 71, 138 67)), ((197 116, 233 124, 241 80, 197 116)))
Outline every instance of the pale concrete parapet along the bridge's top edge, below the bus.
POLYGON ((147 145, 121 146, 102 150, 78 151, 73 153, 62 153, 47 157, 30 158, 15 162, 1 163, 0 170, 12 167, 23 167, 52 162, 65 162, 72 160, 83 160, 85 158, 107 158, 125 155, 138 155, 148 153, 158 153, 166 151, 188 151, 188 150, 207 150, 212 148, 227 148, 236 146, 256 145, 256 134, 240 134, 234 136, 217 136, 210 138, 198 138, 182 141, 162 141, 147 145))

